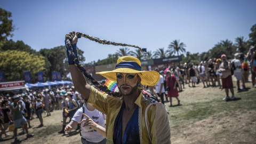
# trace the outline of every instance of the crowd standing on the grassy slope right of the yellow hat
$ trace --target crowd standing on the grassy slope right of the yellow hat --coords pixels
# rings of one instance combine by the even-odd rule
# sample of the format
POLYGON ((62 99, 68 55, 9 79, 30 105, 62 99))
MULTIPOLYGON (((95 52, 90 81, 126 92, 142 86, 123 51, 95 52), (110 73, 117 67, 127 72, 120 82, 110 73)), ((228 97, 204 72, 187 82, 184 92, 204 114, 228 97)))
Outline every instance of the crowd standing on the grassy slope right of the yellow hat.
POLYGON ((158 101, 163 104, 170 101, 169 107, 172 107, 172 98, 176 98, 178 105, 180 105, 178 96, 179 92, 185 88, 185 84, 188 84, 188 87, 196 87, 196 84, 202 82, 203 88, 212 86, 225 89, 226 95, 223 100, 234 100, 232 75, 236 78, 238 92, 246 90, 245 82, 249 82, 249 74, 251 74, 252 87, 256 87, 256 53, 254 50, 255 47, 250 46, 247 54, 235 53, 234 59, 229 61, 226 55, 222 54, 221 58, 205 58, 204 61, 197 64, 189 63, 187 65, 184 63, 182 66, 168 67, 163 70, 156 68, 155 71, 160 75, 159 82, 155 86, 147 86, 146 91, 158 98, 158 101))

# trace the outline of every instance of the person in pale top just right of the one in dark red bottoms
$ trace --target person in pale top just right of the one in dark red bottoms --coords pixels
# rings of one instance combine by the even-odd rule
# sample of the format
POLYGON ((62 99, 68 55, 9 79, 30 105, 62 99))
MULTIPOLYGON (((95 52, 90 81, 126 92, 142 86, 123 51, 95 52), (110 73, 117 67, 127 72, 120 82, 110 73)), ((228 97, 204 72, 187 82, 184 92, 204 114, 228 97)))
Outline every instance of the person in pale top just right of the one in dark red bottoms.
POLYGON ((240 92, 242 89, 245 89, 245 81, 244 77, 242 76, 242 63, 241 60, 239 59, 240 53, 235 53, 235 59, 231 61, 234 62, 235 65, 235 70, 234 70, 234 76, 236 77, 236 85, 237 85, 237 91, 240 92), (242 89, 240 88, 240 81, 242 81, 242 89))

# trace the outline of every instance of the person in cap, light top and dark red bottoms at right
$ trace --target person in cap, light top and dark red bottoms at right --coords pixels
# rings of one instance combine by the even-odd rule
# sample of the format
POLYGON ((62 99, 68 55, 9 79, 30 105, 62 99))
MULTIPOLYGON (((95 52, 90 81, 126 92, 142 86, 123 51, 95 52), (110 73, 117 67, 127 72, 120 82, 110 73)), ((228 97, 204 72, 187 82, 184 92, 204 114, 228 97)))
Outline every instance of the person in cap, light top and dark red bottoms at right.
POLYGON ((220 63, 220 67, 218 69, 219 73, 221 73, 221 81, 222 81, 222 89, 225 89, 226 96, 223 100, 229 100, 228 90, 230 90, 232 96, 231 100, 235 99, 232 77, 231 77, 231 64, 227 61, 227 57, 225 54, 221 55, 222 62, 220 63))

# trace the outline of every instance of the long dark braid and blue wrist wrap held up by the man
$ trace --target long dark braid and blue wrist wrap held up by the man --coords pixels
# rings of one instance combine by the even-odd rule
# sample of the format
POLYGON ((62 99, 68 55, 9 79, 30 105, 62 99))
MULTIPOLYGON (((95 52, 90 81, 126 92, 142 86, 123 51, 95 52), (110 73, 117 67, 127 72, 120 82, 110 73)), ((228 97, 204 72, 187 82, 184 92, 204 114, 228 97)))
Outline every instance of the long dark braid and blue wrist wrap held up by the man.
MULTIPOLYGON (((147 52, 146 48, 141 48, 139 46, 135 46, 135 45, 130 45, 130 44, 123 44, 123 43, 115 43, 115 42, 110 42, 110 41, 106 41, 97 37, 92 37, 83 33, 79 33, 77 32, 77 37, 81 38, 81 37, 85 37, 90 39, 91 41, 95 41, 97 43, 101 43, 101 44, 108 44, 108 45, 119 45, 119 46, 131 46, 131 47, 135 47, 140 49, 141 52, 147 52)), ((71 38, 74 37, 74 34, 71 36, 71 38)), ((99 84, 89 73, 89 71, 87 71, 82 63, 79 62, 78 60, 78 56, 77 56, 77 49, 76 49, 76 44, 72 44, 71 43, 71 39, 66 39, 65 40, 65 45, 67 48, 67 56, 68 56, 68 63, 69 65, 76 65, 78 67, 78 69, 81 71, 81 73, 96 87, 98 87, 101 91, 106 92, 107 94, 113 96, 113 97, 121 97, 121 94, 119 92, 113 92, 110 91, 108 89, 108 87, 106 85, 102 86, 101 84, 99 84)))

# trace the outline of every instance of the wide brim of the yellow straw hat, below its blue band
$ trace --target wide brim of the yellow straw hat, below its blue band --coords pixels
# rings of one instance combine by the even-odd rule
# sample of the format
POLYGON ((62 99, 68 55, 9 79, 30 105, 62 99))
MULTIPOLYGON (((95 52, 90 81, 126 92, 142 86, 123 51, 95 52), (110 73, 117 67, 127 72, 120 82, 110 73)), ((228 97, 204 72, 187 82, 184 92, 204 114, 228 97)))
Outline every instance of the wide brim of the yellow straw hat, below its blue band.
POLYGON ((160 79, 160 75, 157 71, 140 71, 131 68, 117 68, 112 71, 102 71, 96 74, 100 74, 116 82, 116 73, 138 74, 141 78, 141 84, 148 86, 156 85, 160 79))

